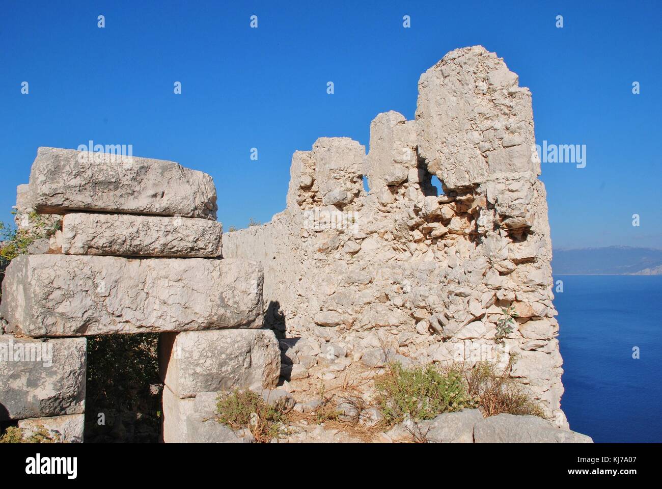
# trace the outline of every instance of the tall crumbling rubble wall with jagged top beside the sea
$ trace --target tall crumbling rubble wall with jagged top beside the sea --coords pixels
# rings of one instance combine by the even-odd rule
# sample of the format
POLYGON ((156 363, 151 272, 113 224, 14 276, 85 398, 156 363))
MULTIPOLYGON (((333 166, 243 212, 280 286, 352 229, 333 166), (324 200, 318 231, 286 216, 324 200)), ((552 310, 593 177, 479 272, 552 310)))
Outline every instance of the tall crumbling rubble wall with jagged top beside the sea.
POLYGON ((530 91, 481 46, 444 56, 418 91, 414 121, 375 117, 367 156, 350 138, 295 152, 285 211, 226 233, 223 254, 263 264, 266 320, 287 336, 354 358, 380 345, 419 362, 516 355, 510 375, 567 425, 530 91), (500 338, 508 308, 516 327, 500 338))

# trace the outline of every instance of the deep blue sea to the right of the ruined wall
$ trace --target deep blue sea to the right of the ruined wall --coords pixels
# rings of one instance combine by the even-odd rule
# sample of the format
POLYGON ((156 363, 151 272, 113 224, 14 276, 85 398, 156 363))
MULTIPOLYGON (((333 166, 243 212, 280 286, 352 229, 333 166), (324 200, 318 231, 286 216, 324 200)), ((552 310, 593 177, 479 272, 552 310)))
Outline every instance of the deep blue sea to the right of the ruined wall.
POLYGON ((596 443, 662 442, 662 276, 554 280, 570 428, 596 443))

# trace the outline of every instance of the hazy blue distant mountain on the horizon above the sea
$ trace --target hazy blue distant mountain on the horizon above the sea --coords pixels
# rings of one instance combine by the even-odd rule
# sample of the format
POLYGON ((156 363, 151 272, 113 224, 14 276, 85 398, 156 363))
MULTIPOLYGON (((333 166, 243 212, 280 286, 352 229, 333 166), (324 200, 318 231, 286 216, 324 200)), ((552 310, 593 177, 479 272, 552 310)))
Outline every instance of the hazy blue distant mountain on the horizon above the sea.
POLYGON ((634 246, 554 250, 551 269, 557 275, 662 275, 662 250, 634 246))

